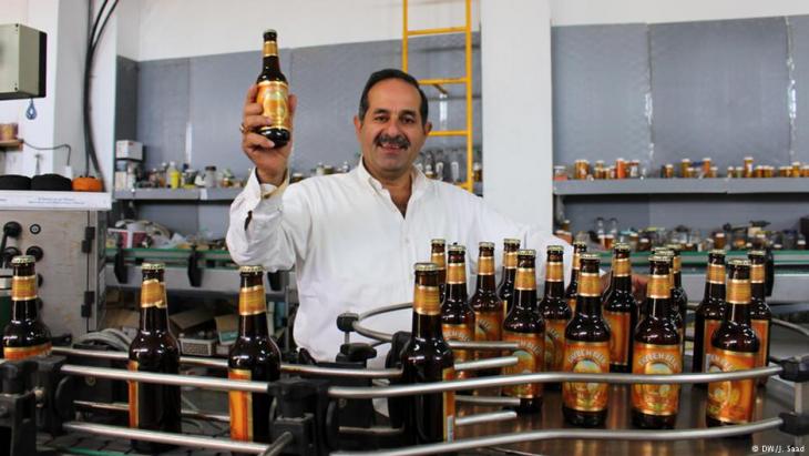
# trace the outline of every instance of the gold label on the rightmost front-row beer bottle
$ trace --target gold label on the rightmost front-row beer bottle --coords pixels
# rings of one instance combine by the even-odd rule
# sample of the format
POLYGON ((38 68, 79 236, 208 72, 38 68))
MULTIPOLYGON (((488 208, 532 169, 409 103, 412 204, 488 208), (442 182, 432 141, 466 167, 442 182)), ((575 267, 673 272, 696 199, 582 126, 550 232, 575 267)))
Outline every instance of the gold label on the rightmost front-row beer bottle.
MULTIPOLYGON (((755 353, 740 353, 714 348, 706 359, 706 372, 734 372, 751 369, 756 365, 755 353)), ((708 384, 708 416, 723 423, 741 424, 752 419, 756 402, 756 381, 746 378, 708 384)))

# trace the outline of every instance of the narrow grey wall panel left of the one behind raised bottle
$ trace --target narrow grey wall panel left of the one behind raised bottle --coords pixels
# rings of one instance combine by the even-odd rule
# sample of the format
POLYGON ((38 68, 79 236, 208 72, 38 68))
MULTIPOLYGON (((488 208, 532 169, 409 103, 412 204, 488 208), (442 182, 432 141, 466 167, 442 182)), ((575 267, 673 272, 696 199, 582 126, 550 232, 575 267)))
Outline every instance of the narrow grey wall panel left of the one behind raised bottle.
POLYGON ((188 59, 141 62, 137 78, 137 140, 146 169, 182 163, 188 122, 188 59))

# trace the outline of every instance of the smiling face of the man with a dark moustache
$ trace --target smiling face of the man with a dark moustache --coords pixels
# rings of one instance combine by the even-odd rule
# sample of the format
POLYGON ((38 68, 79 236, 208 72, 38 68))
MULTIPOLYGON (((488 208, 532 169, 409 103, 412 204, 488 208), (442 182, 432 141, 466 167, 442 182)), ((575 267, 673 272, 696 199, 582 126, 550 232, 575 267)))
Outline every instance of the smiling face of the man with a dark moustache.
POLYGON ((419 91, 400 79, 386 79, 368 92, 365 119, 354 118, 368 171, 395 180, 410 172, 431 125, 421 124, 419 91))

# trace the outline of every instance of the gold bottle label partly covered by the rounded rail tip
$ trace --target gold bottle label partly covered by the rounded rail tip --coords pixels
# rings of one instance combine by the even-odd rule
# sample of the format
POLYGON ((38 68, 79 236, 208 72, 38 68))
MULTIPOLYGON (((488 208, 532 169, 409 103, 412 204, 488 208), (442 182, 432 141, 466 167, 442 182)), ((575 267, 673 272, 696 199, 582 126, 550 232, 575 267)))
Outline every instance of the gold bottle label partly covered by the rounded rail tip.
MULTIPOLYGON (((544 345, 545 337, 540 333, 515 333, 503 330, 504 342, 515 342, 518 349, 513 356, 516 356, 516 364, 503 367, 503 375, 533 374, 542 371, 545 361, 544 345)), ((510 397, 532 398, 542 396, 541 383, 529 383, 522 385, 513 385, 503 387, 503 394, 510 397)))

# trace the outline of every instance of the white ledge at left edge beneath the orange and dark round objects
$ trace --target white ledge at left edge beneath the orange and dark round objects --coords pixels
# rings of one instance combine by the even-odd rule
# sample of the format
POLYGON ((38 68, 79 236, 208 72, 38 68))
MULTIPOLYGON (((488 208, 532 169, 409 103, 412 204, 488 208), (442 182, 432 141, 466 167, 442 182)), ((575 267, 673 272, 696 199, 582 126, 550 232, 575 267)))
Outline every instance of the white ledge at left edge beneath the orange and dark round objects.
POLYGON ((0 210, 109 211, 110 193, 0 191, 0 210))

